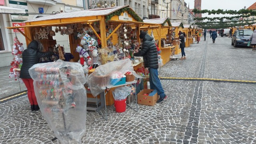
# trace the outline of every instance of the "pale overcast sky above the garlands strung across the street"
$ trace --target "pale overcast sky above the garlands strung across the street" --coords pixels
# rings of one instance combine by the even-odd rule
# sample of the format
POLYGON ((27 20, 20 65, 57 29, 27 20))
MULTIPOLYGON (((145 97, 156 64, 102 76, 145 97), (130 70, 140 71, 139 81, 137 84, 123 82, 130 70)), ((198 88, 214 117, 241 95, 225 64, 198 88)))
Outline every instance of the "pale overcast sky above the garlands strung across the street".
MULTIPOLYGON (((189 8, 194 9, 194 0, 185 0, 185 2, 189 3, 189 8)), ((240 10, 246 6, 248 8, 252 4, 255 3, 255 0, 202 0, 202 10, 240 10)), ((219 17, 219 16, 231 16, 229 14, 226 15, 208 15, 202 14, 202 17, 219 17)))

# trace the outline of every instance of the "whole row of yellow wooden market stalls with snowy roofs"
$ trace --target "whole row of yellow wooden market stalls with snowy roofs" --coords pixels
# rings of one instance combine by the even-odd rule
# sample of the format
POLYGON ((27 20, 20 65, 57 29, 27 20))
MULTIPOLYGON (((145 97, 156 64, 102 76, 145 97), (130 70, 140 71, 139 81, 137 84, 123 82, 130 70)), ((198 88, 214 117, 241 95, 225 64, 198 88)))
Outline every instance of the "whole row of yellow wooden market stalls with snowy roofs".
MULTIPOLYGON (((8 28, 17 30, 24 28, 25 32, 21 32, 21 34, 26 37, 26 43, 30 43, 33 39, 39 39, 43 43, 45 51, 51 50, 52 46, 57 44, 56 40, 52 39, 54 32, 59 31, 62 35, 68 34, 74 61, 79 60, 79 53, 76 51, 81 40, 77 37, 79 32, 82 36, 89 34, 94 37, 101 47, 114 46, 114 48, 130 51, 130 49, 134 50, 140 47, 140 30, 144 30, 148 34, 153 34, 156 44, 162 51, 164 64, 169 61, 173 47, 175 47, 174 54, 180 53, 178 49, 179 31, 186 34, 186 47, 193 43, 196 31, 202 32, 202 29, 191 25, 183 25, 180 22, 171 23, 168 18, 142 21, 128 6, 45 16, 26 21, 26 26, 8 28), (56 29, 52 30, 52 27, 56 27, 56 29), (46 32, 50 33, 50 36, 46 37, 46 32)), ((90 37, 88 38, 90 40, 90 37)), ((94 43, 90 46, 96 47, 94 43)))

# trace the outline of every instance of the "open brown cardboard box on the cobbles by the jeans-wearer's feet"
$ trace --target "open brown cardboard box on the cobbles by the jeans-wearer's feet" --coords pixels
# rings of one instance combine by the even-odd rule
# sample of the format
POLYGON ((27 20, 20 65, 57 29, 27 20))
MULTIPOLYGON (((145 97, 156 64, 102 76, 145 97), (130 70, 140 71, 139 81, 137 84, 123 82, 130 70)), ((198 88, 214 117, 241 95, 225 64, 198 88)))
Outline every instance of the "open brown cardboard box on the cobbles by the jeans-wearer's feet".
POLYGON ((150 94, 153 91, 154 91, 154 89, 143 89, 142 91, 140 91, 140 93, 138 93, 138 95, 137 95, 138 96, 138 104, 154 106, 156 104, 156 102, 158 101, 158 94, 154 93, 153 96, 144 95, 145 93, 150 94))

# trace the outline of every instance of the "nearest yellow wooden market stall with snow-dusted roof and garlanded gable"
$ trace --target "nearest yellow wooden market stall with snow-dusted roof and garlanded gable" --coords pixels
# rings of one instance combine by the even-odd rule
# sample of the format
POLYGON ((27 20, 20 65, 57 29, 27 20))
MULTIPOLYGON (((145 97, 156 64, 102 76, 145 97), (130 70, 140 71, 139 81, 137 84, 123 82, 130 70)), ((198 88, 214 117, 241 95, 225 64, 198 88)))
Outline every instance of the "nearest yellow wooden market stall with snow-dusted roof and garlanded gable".
MULTIPOLYGON (((98 47, 111 47, 117 51, 126 48, 132 51, 132 47, 133 49, 134 47, 139 48, 140 26, 145 24, 129 6, 60 13, 35 18, 25 21, 25 23, 26 26, 8 28, 17 30, 24 28, 24 33, 19 31, 26 37, 26 43, 38 39, 43 43, 45 51, 54 51, 55 45, 58 44, 52 37, 55 34, 54 32, 60 32, 62 35, 67 34, 70 51, 74 55, 74 62, 80 59, 79 53, 76 52, 76 47, 80 45, 81 41, 78 34, 80 36, 89 34, 89 40, 90 37, 96 39, 98 47), (131 25, 136 26, 136 29, 133 30, 131 25), (55 31, 52 30, 52 27, 56 27, 55 31), (52 34, 48 36, 50 33, 52 34)), ((127 53, 124 51, 124 55, 131 56, 130 51, 127 53)), ((106 61, 108 60, 113 61, 114 57, 106 61)), ((134 63, 134 69, 138 69, 142 65, 141 61, 137 64, 134 63)), ((106 105, 112 105, 113 103, 114 99, 110 92, 106 95, 106 105)))

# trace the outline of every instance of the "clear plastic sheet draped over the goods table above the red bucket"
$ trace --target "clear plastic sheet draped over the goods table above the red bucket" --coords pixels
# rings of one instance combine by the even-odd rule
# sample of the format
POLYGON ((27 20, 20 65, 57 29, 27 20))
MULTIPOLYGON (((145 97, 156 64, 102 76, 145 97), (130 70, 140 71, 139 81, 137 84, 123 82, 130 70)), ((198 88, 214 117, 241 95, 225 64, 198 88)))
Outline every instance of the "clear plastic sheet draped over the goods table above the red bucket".
POLYGON ((113 87, 127 72, 131 72, 135 77, 143 78, 135 73, 132 61, 129 58, 100 65, 88 76, 88 84, 92 95, 96 97, 106 87, 113 87))

